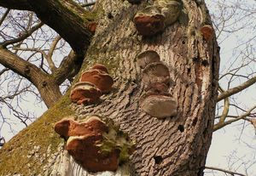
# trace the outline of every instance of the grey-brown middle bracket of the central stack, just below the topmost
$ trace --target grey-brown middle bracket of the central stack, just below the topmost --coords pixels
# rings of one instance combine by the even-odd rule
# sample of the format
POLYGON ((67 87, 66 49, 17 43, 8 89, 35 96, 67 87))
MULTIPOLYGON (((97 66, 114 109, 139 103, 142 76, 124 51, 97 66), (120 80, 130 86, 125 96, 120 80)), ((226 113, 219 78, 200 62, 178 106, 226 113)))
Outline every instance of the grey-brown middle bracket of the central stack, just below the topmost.
POLYGON ((169 85, 171 82, 168 67, 162 62, 154 62, 147 65, 143 70, 142 80, 147 84, 160 82, 169 85))

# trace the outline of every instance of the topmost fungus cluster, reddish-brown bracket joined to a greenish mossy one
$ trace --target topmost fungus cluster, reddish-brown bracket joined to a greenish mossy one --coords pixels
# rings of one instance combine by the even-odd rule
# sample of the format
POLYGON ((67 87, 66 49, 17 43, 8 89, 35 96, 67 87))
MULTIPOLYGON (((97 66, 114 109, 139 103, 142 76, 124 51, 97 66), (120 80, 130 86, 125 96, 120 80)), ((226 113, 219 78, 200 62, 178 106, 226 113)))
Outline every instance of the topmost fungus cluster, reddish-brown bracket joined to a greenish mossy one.
POLYGON ((142 36, 153 36, 172 25, 182 9, 179 0, 155 0, 153 5, 137 12, 133 22, 142 36))

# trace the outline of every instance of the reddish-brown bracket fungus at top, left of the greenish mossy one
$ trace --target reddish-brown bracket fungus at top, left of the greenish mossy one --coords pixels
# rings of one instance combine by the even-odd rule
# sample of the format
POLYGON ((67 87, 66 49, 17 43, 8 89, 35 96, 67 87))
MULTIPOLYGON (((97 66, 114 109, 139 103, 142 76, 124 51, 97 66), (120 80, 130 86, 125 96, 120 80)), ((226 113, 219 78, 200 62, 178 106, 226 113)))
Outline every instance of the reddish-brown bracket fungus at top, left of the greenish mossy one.
POLYGON ((137 31, 142 36, 153 36, 154 34, 165 29, 165 16, 160 13, 156 6, 148 6, 138 11, 133 22, 137 31))

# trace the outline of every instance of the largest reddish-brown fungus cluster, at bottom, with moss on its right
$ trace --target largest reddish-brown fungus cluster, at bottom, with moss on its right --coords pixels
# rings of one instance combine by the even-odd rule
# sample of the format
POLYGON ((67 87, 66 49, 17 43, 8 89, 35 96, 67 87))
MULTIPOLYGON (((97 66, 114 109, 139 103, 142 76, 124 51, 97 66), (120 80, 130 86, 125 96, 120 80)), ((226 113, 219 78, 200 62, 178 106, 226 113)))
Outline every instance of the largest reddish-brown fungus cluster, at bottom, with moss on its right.
POLYGON ((66 150, 88 172, 116 171, 135 145, 111 120, 96 115, 79 122, 67 116, 55 123, 55 132, 67 139, 66 150))

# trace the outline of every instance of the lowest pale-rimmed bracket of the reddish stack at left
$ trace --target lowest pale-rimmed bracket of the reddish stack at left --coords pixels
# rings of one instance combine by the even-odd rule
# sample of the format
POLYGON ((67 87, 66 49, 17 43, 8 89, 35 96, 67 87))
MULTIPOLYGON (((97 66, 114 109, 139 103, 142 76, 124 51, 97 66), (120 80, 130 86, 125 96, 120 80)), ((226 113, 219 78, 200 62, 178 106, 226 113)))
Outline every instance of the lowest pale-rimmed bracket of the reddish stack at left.
POLYGON ((80 105, 95 103, 101 95, 101 90, 90 82, 78 82, 71 90, 70 99, 80 105))

